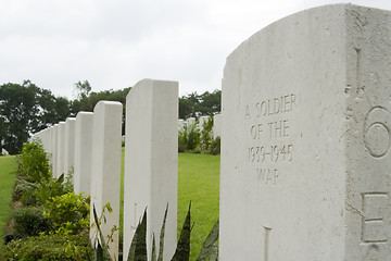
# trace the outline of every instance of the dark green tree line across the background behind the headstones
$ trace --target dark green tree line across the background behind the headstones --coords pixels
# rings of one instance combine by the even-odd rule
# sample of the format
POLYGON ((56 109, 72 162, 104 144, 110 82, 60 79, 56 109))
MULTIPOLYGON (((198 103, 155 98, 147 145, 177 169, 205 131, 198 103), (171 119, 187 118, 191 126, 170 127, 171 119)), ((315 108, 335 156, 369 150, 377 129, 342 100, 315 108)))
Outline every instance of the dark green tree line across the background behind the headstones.
MULTIPOLYGON (((100 100, 119 101, 124 105, 123 134, 125 133, 126 96, 131 87, 119 90, 91 91, 88 80, 75 84, 77 98, 55 97, 51 90, 43 89, 24 80, 23 84, 8 83, 0 86, 0 151, 20 153, 23 144, 31 134, 50 127, 79 111, 93 111, 100 100)), ((220 111, 220 90, 192 92, 179 98, 179 117, 213 115, 220 111)))

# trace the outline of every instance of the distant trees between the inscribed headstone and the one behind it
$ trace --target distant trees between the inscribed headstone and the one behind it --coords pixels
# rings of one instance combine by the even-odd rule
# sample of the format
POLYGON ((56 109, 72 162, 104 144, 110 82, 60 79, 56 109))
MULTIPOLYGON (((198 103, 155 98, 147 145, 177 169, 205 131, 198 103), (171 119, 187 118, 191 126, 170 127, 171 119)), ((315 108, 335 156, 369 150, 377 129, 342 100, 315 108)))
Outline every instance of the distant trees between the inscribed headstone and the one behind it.
POLYGON ((205 91, 202 95, 192 92, 179 98, 179 117, 212 116, 222 110, 222 91, 205 91))

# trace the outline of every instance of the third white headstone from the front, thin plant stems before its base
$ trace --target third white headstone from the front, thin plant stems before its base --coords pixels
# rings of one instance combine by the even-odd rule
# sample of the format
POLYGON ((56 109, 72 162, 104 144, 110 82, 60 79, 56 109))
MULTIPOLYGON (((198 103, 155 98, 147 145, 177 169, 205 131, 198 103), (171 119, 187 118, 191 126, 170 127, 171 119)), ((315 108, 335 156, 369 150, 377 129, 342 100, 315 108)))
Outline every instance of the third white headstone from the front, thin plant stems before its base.
MULTIPOLYGON (((113 211, 105 211, 108 222, 101 225, 104 238, 111 235, 111 228, 119 226, 122 112, 123 105, 116 101, 99 101, 93 109, 90 222, 93 223, 93 206, 100 216, 110 203, 113 211)), ((92 241, 96 233, 96 226, 91 227, 92 241)), ((116 231, 109 245, 113 260, 118 260, 118 244, 116 231)))

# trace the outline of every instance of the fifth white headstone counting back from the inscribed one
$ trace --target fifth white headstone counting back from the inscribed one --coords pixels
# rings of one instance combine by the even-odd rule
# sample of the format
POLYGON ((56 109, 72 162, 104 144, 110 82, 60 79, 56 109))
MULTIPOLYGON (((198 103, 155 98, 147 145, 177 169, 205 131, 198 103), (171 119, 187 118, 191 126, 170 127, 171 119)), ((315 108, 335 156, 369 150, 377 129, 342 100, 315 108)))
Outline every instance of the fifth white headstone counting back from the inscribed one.
POLYGON ((67 117, 64 133, 64 173, 68 175, 75 165, 75 117, 67 117))

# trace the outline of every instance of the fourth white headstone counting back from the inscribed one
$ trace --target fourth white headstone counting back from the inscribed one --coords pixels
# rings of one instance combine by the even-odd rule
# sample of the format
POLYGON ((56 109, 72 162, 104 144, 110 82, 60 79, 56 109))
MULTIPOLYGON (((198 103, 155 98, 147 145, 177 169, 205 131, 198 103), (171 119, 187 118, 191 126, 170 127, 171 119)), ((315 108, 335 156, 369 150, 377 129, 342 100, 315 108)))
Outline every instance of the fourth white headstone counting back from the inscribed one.
POLYGON ((75 125, 74 190, 76 194, 91 194, 93 113, 80 111, 75 125))

